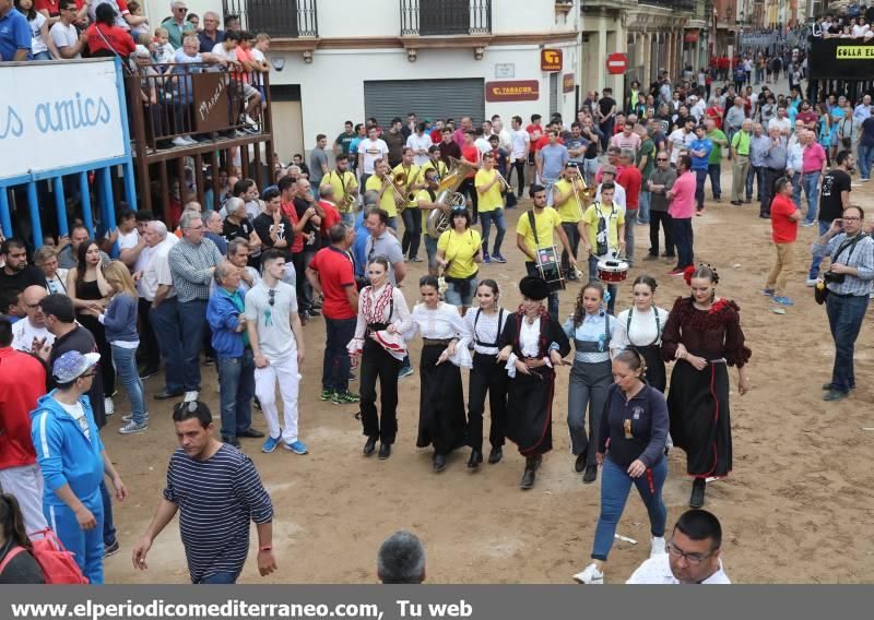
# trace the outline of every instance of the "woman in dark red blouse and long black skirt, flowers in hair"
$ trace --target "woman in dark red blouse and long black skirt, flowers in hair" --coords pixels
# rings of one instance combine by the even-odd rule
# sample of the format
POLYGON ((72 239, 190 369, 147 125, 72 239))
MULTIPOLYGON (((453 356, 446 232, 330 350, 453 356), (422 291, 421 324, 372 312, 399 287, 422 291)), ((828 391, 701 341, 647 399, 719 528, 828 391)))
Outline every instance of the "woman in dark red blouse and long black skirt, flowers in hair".
POLYGON ((729 372, 737 367, 737 390, 749 391, 745 365, 752 351, 744 345, 740 308, 717 297, 716 270, 686 272, 690 297, 674 303, 662 334, 662 357, 676 360, 668 393, 671 437, 686 451, 686 472, 695 478, 689 505, 704 505, 707 478, 731 472, 729 372))

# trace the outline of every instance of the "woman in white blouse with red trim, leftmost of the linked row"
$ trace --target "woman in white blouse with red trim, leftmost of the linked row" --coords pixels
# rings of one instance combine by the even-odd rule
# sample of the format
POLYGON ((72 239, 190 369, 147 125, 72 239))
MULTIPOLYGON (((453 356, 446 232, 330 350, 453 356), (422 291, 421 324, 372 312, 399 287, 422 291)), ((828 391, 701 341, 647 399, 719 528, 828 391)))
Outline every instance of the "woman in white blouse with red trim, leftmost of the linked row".
POLYGON ((361 356, 361 417, 367 442, 364 455, 370 456, 379 440, 379 457, 391 456, 398 434, 398 371, 406 355, 401 334, 412 325, 410 309, 400 289, 388 279, 389 262, 376 257, 367 265, 370 286, 358 296, 358 321, 355 337, 349 343, 353 359, 361 356), (381 415, 376 408, 376 382, 379 380, 381 415))

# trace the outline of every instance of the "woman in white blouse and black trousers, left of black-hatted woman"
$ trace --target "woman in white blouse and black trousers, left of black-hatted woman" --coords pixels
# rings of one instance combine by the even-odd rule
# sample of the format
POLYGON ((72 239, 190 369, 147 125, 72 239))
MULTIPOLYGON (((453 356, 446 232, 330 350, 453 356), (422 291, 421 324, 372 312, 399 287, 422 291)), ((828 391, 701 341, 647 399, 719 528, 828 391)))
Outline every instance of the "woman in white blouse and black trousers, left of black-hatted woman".
POLYGON ((484 279, 476 287, 479 308, 464 314, 468 334, 459 347, 473 344, 473 367, 468 385, 468 445, 471 457, 468 467, 476 469, 483 462, 483 413, 485 397, 492 426, 488 442, 492 451, 488 462, 495 464, 504 457, 507 426, 507 371, 498 363, 498 338, 510 313, 500 306, 500 289, 494 279, 484 279))

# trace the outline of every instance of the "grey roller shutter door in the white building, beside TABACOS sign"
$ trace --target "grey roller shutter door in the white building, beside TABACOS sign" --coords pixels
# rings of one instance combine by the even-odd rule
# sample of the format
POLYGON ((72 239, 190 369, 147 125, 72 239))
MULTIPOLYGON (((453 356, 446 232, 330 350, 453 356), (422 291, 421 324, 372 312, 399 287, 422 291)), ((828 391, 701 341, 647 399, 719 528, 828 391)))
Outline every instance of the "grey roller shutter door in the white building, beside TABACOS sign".
POLYGON ((409 112, 432 120, 470 116, 479 124, 485 115, 485 85, 479 79, 365 82, 364 111, 380 127, 394 117, 405 120, 409 112))

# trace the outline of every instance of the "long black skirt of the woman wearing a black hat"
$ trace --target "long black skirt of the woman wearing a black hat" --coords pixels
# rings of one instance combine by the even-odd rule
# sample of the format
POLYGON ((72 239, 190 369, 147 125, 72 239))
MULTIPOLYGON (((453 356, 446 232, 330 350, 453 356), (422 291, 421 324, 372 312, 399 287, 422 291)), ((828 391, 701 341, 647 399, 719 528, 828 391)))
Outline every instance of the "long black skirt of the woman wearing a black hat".
POLYGON ((516 373, 507 391, 507 439, 523 456, 553 449, 553 392, 555 371, 535 368, 531 374, 516 373))

